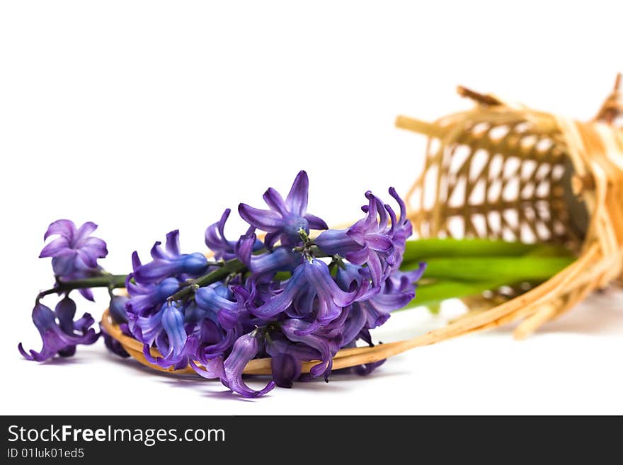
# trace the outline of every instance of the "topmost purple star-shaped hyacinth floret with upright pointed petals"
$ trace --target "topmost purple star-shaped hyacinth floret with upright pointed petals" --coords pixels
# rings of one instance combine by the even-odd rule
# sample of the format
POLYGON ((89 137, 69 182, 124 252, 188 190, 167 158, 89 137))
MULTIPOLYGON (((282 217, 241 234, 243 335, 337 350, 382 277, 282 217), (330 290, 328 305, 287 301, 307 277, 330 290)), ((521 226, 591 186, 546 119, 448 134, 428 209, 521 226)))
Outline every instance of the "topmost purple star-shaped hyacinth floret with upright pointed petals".
POLYGON ((285 200, 275 189, 269 188, 263 199, 270 209, 241 203, 238 212, 248 224, 268 233, 264 239, 266 247, 273 248, 278 240, 288 246, 300 243, 300 230, 309 234, 310 229, 328 229, 324 220, 307 213, 308 190, 307 173, 300 171, 285 200))

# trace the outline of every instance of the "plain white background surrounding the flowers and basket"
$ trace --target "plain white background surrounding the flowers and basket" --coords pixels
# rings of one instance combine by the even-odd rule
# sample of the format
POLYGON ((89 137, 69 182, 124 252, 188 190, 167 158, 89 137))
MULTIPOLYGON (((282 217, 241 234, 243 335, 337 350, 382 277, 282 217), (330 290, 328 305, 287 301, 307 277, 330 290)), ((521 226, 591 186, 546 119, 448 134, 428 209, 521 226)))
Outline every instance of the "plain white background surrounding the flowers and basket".
MULTIPOLYGON (((52 220, 100 224, 103 265, 126 272, 174 228, 203 250, 224 207, 261 206, 302 168, 310 212, 356 219, 365 190, 405 193, 416 176, 424 140, 394 117, 468 108, 457 84, 592 117, 623 69, 622 17, 616 1, 2 2, 0 413, 623 413, 615 292, 523 343, 504 328, 253 401, 101 342, 40 366, 16 350, 40 348, 30 310, 52 284, 37 258, 52 220)), ((97 297, 79 309, 97 318, 97 297)), ((418 309, 377 337, 443 323, 418 309)))

